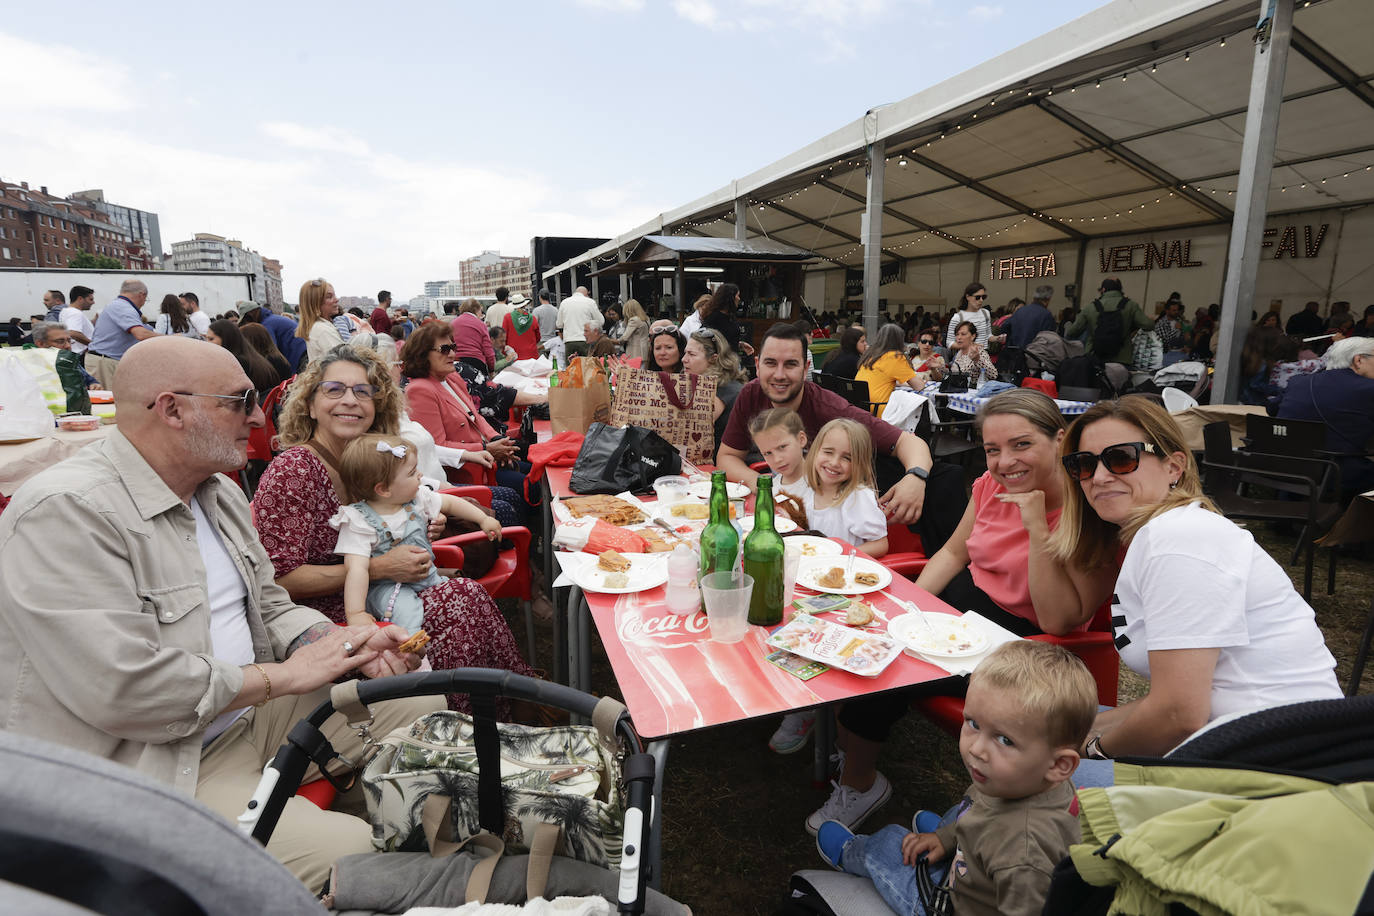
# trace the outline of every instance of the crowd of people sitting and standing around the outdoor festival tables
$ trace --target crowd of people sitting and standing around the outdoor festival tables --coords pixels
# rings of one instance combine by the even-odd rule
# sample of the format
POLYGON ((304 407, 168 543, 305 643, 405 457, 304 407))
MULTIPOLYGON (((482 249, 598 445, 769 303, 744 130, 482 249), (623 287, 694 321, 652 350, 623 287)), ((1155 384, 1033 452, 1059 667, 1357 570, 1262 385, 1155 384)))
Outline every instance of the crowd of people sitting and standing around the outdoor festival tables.
MULTIPOLYGON (((959 750, 971 786, 944 816, 918 813, 910 831, 856 834, 892 795, 878 764, 911 696, 842 707, 840 769, 805 828, 829 864, 871 878, 899 912, 921 912, 922 882, 938 884, 951 864, 956 912, 1040 912, 1077 838, 1074 786, 1109 784, 1112 758, 1165 755, 1220 721, 1340 696, 1312 608, 1212 505, 1158 398, 1103 400, 1066 423, 1041 393, 995 394, 976 420, 987 471, 970 496, 963 470, 934 460, 921 437, 811 376, 811 346, 826 335, 840 347, 822 369, 867 380, 878 405, 955 374, 971 386, 996 378, 995 350, 1044 334, 1079 335, 1110 363, 1150 350, 1142 335, 1158 341, 1161 364, 1213 350, 1216 316, 1184 323, 1178 297, 1151 319, 1109 279, 1091 308, 1055 319, 1048 287, 991 312, 974 283, 954 313, 896 316, 871 342, 822 313, 819 327, 779 321, 757 345, 730 283, 657 319, 635 299, 603 310, 585 288, 556 305, 497 290, 489 308, 469 299, 419 321, 383 291, 371 314, 350 314, 324 279, 301 287, 297 320, 251 302, 212 317, 187 294, 164 297, 150 327, 147 286, 128 280, 91 327, 91 291, 70 298, 85 308, 62 304, 56 321, 33 328, 34 342, 69 353, 63 371, 91 374, 73 376, 69 404, 91 386, 113 389, 118 426, 33 477, 0 514, 10 569, 40 569, 54 542, 85 563, 60 591, 41 577, 0 582, 0 717, 229 817, 335 678, 422 663, 536 674, 482 586, 438 574, 430 541, 452 523, 493 542, 503 526, 537 527, 508 423, 513 409, 545 400, 496 382, 537 356, 714 376, 716 464, 730 479, 754 489, 761 459, 779 505, 794 507, 785 511, 868 556, 889 551, 893 526, 910 526, 930 558, 916 585, 951 606, 1021 636, 1080 632, 1110 608, 1121 662, 1149 681, 1145 696, 1099 709, 1092 676, 1069 652, 1028 641, 998 650, 967 684, 959 750), (264 415, 269 398, 275 417, 264 415), (250 437, 269 422, 275 456, 250 508, 223 474, 243 468, 250 437), (437 494, 448 483, 488 488, 480 503, 491 508, 437 494), (431 639, 425 658, 398 651, 418 628, 431 639)), ((1311 339, 1323 336, 1308 334, 1312 319, 1256 325, 1263 341, 1305 335, 1297 342, 1320 346, 1320 360, 1312 349, 1271 365, 1271 343, 1256 353, 1267 371, 1303 364, 1281 374, 1279 413, 1327 423, 1347 452, 1342 472, 1371 486, 1360 475, 1374 467, 1363 457, 1374 434, 1374 306, 1360 327, 1333 317, 1327 346, 1311 339)), ((396 700, 378 721, 405 724, 444 702, 396 700)), ((467 702, 447 698, 451 709, 467 702)), ((769 744, 794 753, 813 726, 813 711, 793 713, 769 744)), ((338 732, 335 747, 360 750, 356 735, 338 732)), ((293 799, 268 849, 319 887, 338 857, 371 849, 371 835, 357 818, 293 799)))

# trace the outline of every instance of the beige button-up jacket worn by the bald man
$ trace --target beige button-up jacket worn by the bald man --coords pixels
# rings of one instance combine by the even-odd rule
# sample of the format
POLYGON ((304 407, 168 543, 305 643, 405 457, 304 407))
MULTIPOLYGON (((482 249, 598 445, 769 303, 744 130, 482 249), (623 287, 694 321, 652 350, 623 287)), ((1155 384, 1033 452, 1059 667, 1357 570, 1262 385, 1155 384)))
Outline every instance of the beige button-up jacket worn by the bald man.
MULTIPOLYGON (((284 658, 327 618, 273 582, 228 478, 196 497, 247 584, 257 661, 284 658)), ((195 516, 118 430, 19 488, 0 515, 0 726, 194 794, 201 736, 242 685, 213 655, 195 516)))

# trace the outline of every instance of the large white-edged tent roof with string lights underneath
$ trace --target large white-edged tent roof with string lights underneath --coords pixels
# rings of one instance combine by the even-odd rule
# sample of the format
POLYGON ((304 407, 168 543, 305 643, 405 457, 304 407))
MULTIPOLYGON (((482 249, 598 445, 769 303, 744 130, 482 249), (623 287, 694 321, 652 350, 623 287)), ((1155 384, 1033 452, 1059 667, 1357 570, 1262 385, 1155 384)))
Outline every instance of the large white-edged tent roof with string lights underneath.
MULTIPOLYGON (((1268 210, 1374 202, 1374 3, 1298 7, 1268 210)), ((750 240, 859 266, 878 140, 885 257, 1230 222, 1256 16, 1253 0, 1114 0, 544 276, 646 235, 732 238, 736 198, 750 240)))

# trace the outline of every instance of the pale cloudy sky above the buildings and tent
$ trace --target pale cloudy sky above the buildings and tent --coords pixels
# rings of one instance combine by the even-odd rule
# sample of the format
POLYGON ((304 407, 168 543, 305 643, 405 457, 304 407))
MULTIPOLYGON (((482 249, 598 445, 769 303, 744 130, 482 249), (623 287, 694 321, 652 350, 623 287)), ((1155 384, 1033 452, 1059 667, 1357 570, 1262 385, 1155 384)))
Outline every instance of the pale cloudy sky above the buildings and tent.
POLYGON ((15 4, 0 177, 407 299, 613 236, 1096 0, 15 4))

